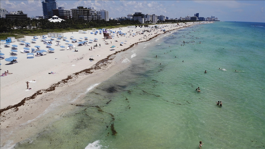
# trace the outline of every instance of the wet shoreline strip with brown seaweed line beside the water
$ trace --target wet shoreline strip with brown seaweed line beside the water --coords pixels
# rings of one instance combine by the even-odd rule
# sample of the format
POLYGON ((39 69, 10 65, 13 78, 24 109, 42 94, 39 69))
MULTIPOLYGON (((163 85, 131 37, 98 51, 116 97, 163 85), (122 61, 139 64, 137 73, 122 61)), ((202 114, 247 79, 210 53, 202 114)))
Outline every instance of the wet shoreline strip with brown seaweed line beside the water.
MULTIPOLYGON (((196 24, 191 24, 191 25, 187 25, 184 27, 180 27, 180 28, 185 28, 185 27, 189 27, 192 25, 196 25, 196 24)), ((176 29, 180 29, 180 28, 176 28, 176 29)), ((172 29, 172 30, 176 30, 176 29, 172 29)), ((170 32, 172 30, 169 30, 167 32, 170 32)), ((160 34, 162 35, 165 33, 166 32, 163 32, 160 34)), ((140 41, 136 43, 150 41, 156 38, 160 34, 158 33, 157 35, 154 35, 152 38, 148 40, 140 41)), ((83 69, 81 71, 68 75, 66 78, 60 80, 59 82, 53 83, 52 85, 50 85, 49 88, 40 89, 36 91, 33 95, 29 97, 25 97, 21 102, 17 104, 1 109, 1 112, 0 112, 1 129, 5 130, 3 131, 3 133, 11 131, 13 126, 20 127, 21 124, 25 124, 26 122, 34 120, 36 117, 40 116, 40 114, 42 114, 51 105, 52 102, 56 101, 55 98, 57 96, 61 96, 60 92, 66 92, 67 90, 72 91, 73 89, 75 89, 76 86, 79 86, 78 84, 82 80, 88 79, 88 77, 91 78, 91 81, 90 81, 90 87, 91 87, 91 85, 107 80, 109 77, 113 76, 117 72, 126 68, 126 65, 122 64, 123 67, 120 67, 121 63, 120 64, 114 63, 115 61, 112 61, 112 60, 117 56, 118 53, 127 51, 130 48, 134 47, 134 44, 135 43, 129 45, 129 47, 127 48, 124 48, 112 54, 109 54, 106 58, 103 58, 97 61, 94 65, 92 65, 91 67, 87 69, 83 69), (107 70, 109 70, 108 72, 110 73, 108 75, 106 74, 103 75, 103 73, 107 72, 107 70), (27 112, 31 114, 25 114, 27 112)), ((87 89, 84 88, 84 90, 87 90, 87 89)), ((79 93, 81 92, 80 93, 80 96, 81 96, 82 91, 77 90, 76 92, 79 92, 79 93)), ((73 99, 76 98, 76 95, 72 95, 73 99)), ((20 138, 17 140, 17 142, 19 140, 20 138)), ((3 140, 1 139, 1 142, 2 141, 3 140)), ((1 143, 1 146, 2 146, 2 143, 1 143)))

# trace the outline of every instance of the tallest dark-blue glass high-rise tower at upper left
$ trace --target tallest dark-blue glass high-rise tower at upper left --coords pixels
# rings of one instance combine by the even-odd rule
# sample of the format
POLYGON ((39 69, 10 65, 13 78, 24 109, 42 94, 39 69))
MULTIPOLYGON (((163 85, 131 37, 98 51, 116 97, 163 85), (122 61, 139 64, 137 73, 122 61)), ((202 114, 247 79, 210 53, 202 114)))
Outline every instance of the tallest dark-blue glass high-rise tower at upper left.
POLYGON ((57 9, 56 0, 45 0, 42 1, 41 3, 42 3, 42 11, 44 19, 52 18, 52 16, 54 16, 52 9, 57 9))

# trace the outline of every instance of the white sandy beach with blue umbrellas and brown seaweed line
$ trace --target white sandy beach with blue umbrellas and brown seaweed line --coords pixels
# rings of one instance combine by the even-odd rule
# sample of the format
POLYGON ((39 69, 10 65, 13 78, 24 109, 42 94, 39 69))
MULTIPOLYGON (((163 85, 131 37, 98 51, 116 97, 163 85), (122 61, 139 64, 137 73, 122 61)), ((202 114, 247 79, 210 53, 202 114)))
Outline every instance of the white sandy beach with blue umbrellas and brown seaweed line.
MULTIPOLYGON (((159 26, 167 26, 162 29, 170 31, 193 24, 195 23, 179 24, 179 26, 177 24, 160 24, 159 26)), ((196 22, 196 24, 198 24, 198 22, 196 22)), ((54 53, 44 52, 46 55, 35 56, 33 59, 27 59, 26 53, 20 53, 20 50, 25 46, 19 45, 19 42, 11 43, 10 48, 1 46, 1 52, 5 54, 5 58, 9 58, 11 56, 9 55, 9 52, 11 52, 11 45, 18 45, 18 52, 16 52, 18 63, 9 64, 9 62, 4 59, 0 61, 2 64, 0 66, 1 74, 7 70, 10 73, 13 73, 0 77, 1 136, 7 132, 11 132, 12 129, 20 127, 20 124, 38 117, 51 105, 52 102, 54 102, 56 97, 67 97, 67 91, 75 91, 75 88, 80 88, 79 86, 82 86, 82 83, 80 83, 81 80, 89 78, 90 85, 97 84, 126 67, 125 63, 121 63, 124 58, 121 57, 118 61, 112 61, 112 58, 114 58, 115 55, 109 55, 132 47, 135 43, 147 41, 156 35, 164 33, 161 29, 144 27, 125 27, 121 29, 114 28, 111 30, 121 30, 123 33, 126 33, 126 35, 119 35, 117 37, 115 33, 114 39, 105 39, 105 41, 107 41, 105 42, 103 34, 90 34, 90 32, 92 32, 91 30, 86 31, 87 34, 81 34, 78 32, 63 33, 63 36, 67 37, 67 40, 70 41, 69 44, 73 44, 78 52, 74 52, 74 50, 62 50, 66 48, 55 46, 56 42, 53 41, 51 47, 55 49, 54 53), (143 30, 150 30, 151 32, 144 32, 144 34, 138 34, 134 37, 129 35, 129 32, 136 33, 142 32, 143 30), (156 32, 157 34, 155 34, 156 32), (78 43, 71 43, 71 39, 69 39, 70 36, 74 36, 75 39, 84 37, 88 37, 88 39, 97 38, 98 42, 88 43, 90 46, 77 46, 78 43), (115 42, 115 40, 118 42, 115 42), (126 44, 120 46, 121 42, 126 44), (97 45, 100 44, 101 47, 95 47, 93 50, 89 50, 89 48, 93 47, 96 43, 97 45), (105 43, 109 44, 106 45, 105 43), (113 45, 115 46, 115 50, 110 50, 113 45), (94 61, 88 60, 89 58, 93 58, 94 61), (82 70, 84 71, 80 72, 82 70), (55 74, 48 74, 51 72, 55 74), (27 86, 25 82, 32 80, 36 80, 36 82, 30 82, 29 88, 32 89, 26 91, 27 86), (10 108, 12 106, 13 108, 10 108)), ((50 39, 47 34, 46 37, 47 39, 50 39)), ((26 42, 30 43, 33 36, 26 36, 25 38, 26 42)), ((41 37, 38 36, 38 38, 39 39, 37 39, 36 43, 30 44, 31 47, 29 48, 36 49, 34 46, 38 45, 40 46, 40 49, 48 50, 48 48, 45 47, 46 45, 40 41, 41 37)), ((61 40, 60 44, 67 47, 66 42, 63 40, 61 40)), ((36 53, 34 53, 34 55, 36 55, 36 53)), ((86 88, 84 90, 86 90, 86 88)), ((79 93, 83 91, 76 90, 76 92, 76 95, 79 95, 79 93)), ((75 98, 75 95, 71 96, 75 98)), ((27 135, 25 135, 25 137, 27 137, 27 135)), ((25 139, 25 137, 23 137, 23 139, 25 139)), ((23 140, 16 136, 11 137, 11 139, 14 141, 23 140)), ((7 145, 5 144, 5 141, 6 139, 3 140, 1 137, 1 147, 7 145)))

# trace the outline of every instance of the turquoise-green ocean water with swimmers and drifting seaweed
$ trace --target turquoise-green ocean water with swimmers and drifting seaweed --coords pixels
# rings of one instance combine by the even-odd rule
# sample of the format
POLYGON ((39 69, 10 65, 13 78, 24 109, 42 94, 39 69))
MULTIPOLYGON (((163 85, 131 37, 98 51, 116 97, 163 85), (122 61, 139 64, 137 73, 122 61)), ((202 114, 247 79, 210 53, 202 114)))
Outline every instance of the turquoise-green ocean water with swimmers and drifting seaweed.
POLYGON ((15 148, 265 148, 264 35, 215 22, 139 43, 128 68, 15 148))

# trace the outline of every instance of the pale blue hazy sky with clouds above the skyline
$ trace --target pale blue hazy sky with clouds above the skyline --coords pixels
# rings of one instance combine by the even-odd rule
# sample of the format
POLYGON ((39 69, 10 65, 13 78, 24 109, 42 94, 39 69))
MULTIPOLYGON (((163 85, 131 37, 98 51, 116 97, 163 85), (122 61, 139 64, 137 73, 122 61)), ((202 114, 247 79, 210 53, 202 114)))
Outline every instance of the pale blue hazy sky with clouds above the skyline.
MULTIPOLYGON (((44 0, 43 0, 44 1, 44 0)), ((42 0, 1 0, 0 7, 10 11, 23 11, 31 16, 43 15, 42 0)), ((221 21, 265 22, 265 1, 152 1, 152 0, 56 0, 58 7, 65 9, 77 6, 94 7, 95 10, 109 11, 109 18, 127 17, 128 14, 163 15, 169 18, 194 16, 215 16, 221 21)))

